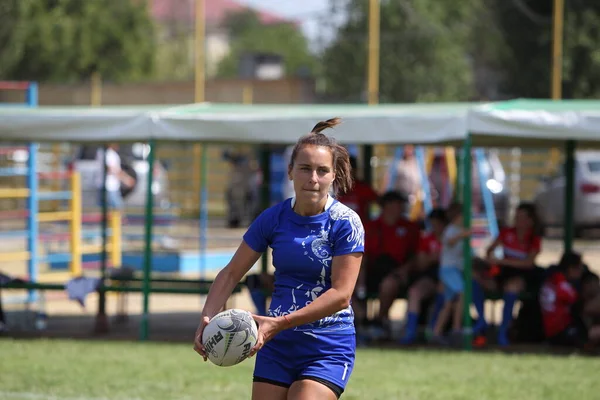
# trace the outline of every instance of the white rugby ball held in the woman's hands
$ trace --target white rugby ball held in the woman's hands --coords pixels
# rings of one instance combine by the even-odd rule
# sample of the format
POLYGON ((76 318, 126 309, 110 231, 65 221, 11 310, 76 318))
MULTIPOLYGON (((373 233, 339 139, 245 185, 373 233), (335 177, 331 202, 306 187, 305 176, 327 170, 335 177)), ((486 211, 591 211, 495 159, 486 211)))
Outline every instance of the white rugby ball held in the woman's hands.
POLYGON ((234 308, 210 320, 202 332, 202 344, 213 364, 230 367, 248 357, 257 337, 258 327, 252 314, 234 308))

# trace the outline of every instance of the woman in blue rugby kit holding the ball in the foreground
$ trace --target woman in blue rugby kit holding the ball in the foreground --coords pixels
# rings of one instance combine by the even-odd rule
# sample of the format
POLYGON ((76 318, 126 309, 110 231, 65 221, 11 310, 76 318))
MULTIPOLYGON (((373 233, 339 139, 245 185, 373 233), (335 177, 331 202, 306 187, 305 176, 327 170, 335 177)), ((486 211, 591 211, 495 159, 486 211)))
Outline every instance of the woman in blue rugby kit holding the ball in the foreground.
POLYGON ((217 275, 202 311, 194 348, 235 285, 267 247, 273 249, 275 289, 259 325, 253 399, 336 399, 355 360, 350 299, 364 252, 359 216, 329 195, 348 191, 347 150, 322 133, 339 123, 318 123, 296 143, 288 166, 295 196, 265 210, 250 226, 229 264, 217 275))

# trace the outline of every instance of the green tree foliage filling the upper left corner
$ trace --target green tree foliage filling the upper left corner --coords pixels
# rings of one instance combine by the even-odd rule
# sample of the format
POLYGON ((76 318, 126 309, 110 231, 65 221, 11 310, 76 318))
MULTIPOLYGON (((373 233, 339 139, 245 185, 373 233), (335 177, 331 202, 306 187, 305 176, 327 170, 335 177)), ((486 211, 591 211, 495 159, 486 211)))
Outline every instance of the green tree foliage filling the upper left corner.
POLYGON ((145 1, 0 2, 0 79, 137 80, 152 73, 154 41, 145 1))

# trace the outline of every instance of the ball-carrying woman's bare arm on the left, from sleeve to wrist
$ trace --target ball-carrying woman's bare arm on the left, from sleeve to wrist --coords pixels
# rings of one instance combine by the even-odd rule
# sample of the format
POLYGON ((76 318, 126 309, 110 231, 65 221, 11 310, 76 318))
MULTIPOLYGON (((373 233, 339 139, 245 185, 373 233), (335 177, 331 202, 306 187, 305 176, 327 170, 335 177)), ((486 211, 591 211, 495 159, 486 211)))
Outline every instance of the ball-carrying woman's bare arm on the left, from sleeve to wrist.
POLYGON ((202 310, 202 318, 211 319, 217 315, 225 306, 227 299, 233 293, 235 286, 242 280, 244 275, 258 261, 261 253, 250 248, 242 241, 231 261, 223 268, 215 278, 208 291, 208 297, 202 310))

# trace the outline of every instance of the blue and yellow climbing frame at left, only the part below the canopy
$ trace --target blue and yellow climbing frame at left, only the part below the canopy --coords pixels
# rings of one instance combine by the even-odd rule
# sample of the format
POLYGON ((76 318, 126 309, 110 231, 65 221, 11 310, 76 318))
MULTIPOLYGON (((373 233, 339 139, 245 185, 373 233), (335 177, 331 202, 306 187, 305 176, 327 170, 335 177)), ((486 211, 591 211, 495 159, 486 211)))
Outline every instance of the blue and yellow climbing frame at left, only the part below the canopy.
MULTIPOLYGON (((2 147, 1 153, 10 154, 11 151, 22 151, 22 148, 2 147)), ((84 240, 99 236, 94 230, 84 230, 84 224, 91 219, 82 215, 81 209, 81 180, 79 174, 69 171, 39 172, 36 163, 37 145, 28 146, 27 167, 0 168, 0 177, 25 177, 27 188, 4 187, 0 188, 0 199, 23 199, 28 207, 25 210, 10 210, 0 212, 3 221, 27 219, 26 230, 5 230, 0 237, 6 239, 27 238, 26 251, 13 251, 0 253, 0 262, 23 261, 28 263, 29 280, 36 282, 39 278, 39 265, 47 263, 68 263, 72 276, 80 276, 83 269, 91 269, 94 262, 83 262, 86 255, 97 254, 102 251, 100 246, 85 244, 84 240), (63 180, 68 182, 68 189, 62 191, 39 190, 45 181, 63 180), (41 212, 40 202, 61 200, 66 202, 67 208, 61 211, 41 212), (50 226, 41 227, 50 223, 50 226), (68 224, 65 232, 64 225, 68 224), (68 251, 52 252, 52 245, 60 241, 69 241, 68 251), (45 248, 43 248, 45 247, 45 248), (44 251, 42 251, 44 250, 44 251)), ((50 184, 45 186, 51 186, 50 184)), ((62 185, 64 186, 64 185, 62 185)), ((107 251, 110 254, 110 265, 121 265, 121 215, 111 212, 109 215, 110 243, 107 251)))

